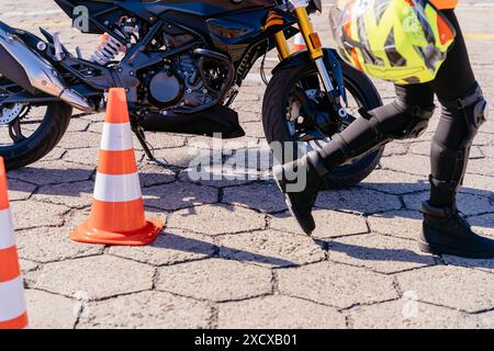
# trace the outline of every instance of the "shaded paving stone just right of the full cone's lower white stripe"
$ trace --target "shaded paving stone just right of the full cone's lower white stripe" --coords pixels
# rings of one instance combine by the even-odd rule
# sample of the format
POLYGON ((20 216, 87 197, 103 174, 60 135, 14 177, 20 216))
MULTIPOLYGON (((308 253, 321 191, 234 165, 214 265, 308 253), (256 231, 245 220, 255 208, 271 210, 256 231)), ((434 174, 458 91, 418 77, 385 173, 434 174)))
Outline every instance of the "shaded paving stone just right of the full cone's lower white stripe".
POLYGON ((209 186, 175 182, 143 189, 146 206, 165 211, 180 210, 217 202, 217 190, 209 186))

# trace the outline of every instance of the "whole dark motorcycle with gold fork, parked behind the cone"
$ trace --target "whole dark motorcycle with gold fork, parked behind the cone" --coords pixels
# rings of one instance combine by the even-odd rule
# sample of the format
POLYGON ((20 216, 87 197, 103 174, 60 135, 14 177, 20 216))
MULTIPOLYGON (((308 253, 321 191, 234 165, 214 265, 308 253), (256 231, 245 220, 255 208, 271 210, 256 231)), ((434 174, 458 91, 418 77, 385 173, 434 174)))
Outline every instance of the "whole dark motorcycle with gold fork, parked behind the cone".
MULTIPOLYGON (((269 143, 318 148, 359 113, 381 105, 371 81, 322 46, 310 20, 323 10, 322 0, 55 2, 75 27, 103 41, 83 58, 57 34, 40 29, 41 38, 0 22, 0 129, 8 134, 0 156, 8 169, 47 155, 72 109, 104 110, 105 91, 115 87, 126 90, 132 129, 149 159, 146 132, 242 137, 233 103, 255 63, 273 49, 280 64, 262 106, 269 143), (294 54, 288 39, 297 33, 307 49, 294 54)), ((381 156, 382 149, 344 165, 326 185, 360 182, 381 156)))

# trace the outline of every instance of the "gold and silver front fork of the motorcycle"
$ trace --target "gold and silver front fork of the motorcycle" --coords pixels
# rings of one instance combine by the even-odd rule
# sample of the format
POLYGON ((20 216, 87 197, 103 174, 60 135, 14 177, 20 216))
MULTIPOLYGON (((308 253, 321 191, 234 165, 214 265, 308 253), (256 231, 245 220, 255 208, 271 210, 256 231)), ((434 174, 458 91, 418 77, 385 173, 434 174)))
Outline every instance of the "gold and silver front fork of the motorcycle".
MULTIPOLYGON (((327 71, 326 65, 324 63, 323 45, 321 43, 318 34, 314 31, 312 26, 307 10, 305 9, 305 7, 299 5, 295 7, 294 13, 299 23, 299 30, 304 38, 305 45, 307 46, 311 59, 313 59, 314 63, 316 64, 326 93, 332 100, 330 102, 337 105, 338 115, 340 117, 345 117, 347 115, 346 109, 343 107, 341 104, 335 99, 334 94, 335 86, 332 82, 329 72, 327 71)), ((282 60, 289 58, 291 56, 291 52, 287 42, 287 37, 284 36, 284 33, 282 31, 278 32, 274 35, 274 39, 277 43, 277 48, 280 58, 282 60)))

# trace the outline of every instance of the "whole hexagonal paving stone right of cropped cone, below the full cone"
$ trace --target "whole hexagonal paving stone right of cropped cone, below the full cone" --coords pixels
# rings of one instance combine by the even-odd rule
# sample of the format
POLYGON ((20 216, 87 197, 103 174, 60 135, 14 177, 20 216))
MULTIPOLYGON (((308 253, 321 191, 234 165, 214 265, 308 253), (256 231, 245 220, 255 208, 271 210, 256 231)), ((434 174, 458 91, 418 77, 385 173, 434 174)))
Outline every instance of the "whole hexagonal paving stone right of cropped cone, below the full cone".
POLYGON ((94 256, 45 264, 33 274, 33 287, 92 301, 150 290, 154 273, 147 264, 94 256))

